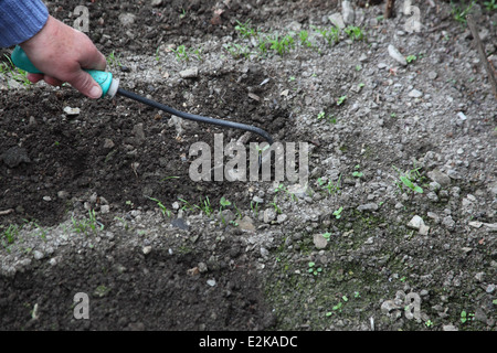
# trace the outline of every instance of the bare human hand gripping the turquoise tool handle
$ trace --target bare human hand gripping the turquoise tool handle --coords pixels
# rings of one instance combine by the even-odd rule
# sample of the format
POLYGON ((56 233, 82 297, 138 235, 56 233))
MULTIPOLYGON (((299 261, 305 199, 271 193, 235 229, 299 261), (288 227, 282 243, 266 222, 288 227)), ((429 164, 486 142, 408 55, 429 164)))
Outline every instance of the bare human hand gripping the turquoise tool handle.
POLYGON ((49 85, 60 86, 67 82, 89 98, 102 96, 101 86, 84 69, 104 71, 107 62, 83 32, 50 15, 43 29, 20 45, 43 73, 29 74, 32 83, 43 79, 49 85))

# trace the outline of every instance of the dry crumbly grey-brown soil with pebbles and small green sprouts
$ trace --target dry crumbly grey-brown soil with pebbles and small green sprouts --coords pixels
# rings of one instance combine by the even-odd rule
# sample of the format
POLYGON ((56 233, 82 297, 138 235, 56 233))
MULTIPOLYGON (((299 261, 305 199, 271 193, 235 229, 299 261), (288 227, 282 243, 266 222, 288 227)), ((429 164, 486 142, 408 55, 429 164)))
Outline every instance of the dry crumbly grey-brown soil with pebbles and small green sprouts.
MULTIPOLYGON (((367 2, 45 1, 87 7, 123 88, 307 142, 310 174, 193 182, 190 146, 244 132, 3 71, 0 329, 495 331, 497 105, 464 3, 412 1, 410 32, 367 2), (340 17, 364 38, 329 45, 340 17)), ((491 61, 497 11, 472 12, 491 61)))

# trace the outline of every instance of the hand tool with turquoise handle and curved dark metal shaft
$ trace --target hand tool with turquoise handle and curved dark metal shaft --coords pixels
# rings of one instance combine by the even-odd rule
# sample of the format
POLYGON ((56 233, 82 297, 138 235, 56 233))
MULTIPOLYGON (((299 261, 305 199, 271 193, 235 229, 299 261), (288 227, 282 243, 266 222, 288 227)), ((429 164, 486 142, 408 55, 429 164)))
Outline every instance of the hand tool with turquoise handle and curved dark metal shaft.
MULTIPOLYGON (((18 66, 19 68, 24 69, 25 72, 32 73, 32 74, 42 74, 29 60, 28 55, 24 53, 24 51, 18 45, 12 52, 12 63, 18 66)), ((102 87, 103 94, 102 97, 109 97, 113 98, 116 94, 135 99, 137 101, 144 103, 146 105, 149 105, 154 108, 167 111, 169 114, 176 115, 180 118, 193 120, 198 122, 204 122, 204 124, 212 124, 218 125, 225 128, 233 128, 233 129, 240 129, 245 130, 250 132, 254 132, 261 137, 263 137, 269 145, 273 145, 273 138, 269 133, 264 131, 261 128, 257 128, 255 126, 234 122, 234 121, 226 121, 222 119, 214 119, 210 117, 202 117, 200 115, 193 115, 188 114, 183 111, 176 110, 171 107, 168 107, 163 104, 157 103, 155 100, 145 98, 142 96, 139 96, 133 92, 125 90, 123 88, 119 88, 119 79, 113 78, 113 74, 108 72, 103 71, 96 71, 96 69, 86 69, 86 72, 95 79, 98 85, 102 87)))

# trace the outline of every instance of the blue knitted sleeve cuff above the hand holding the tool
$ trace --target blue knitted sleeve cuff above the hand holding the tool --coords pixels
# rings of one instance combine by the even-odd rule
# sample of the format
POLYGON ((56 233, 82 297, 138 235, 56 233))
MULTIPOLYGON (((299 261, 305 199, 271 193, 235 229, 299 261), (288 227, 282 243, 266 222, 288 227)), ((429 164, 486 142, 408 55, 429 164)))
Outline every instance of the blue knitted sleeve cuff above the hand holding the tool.
POLYGON ((0 0, 0 47, 28 41, 47 19, 49 10, 41 0, 0 0))

